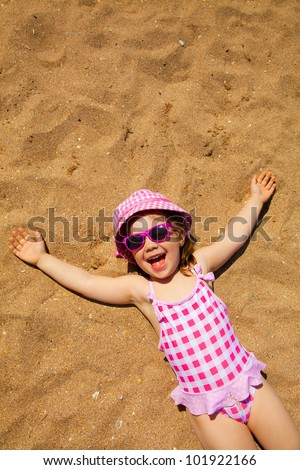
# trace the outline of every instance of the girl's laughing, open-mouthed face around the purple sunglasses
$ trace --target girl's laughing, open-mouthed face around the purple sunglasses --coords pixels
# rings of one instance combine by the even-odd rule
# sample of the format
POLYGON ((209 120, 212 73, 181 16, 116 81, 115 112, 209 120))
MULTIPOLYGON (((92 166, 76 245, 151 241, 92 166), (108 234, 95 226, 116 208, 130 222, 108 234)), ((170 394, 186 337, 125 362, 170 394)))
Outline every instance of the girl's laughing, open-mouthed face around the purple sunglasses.
MULTIPOLYGON (((165 221, 166 218, 161 214, 137 216, 131 224, 130 234, 145 232, 165 221)), ((184 244, 185 236, 176 228, 170 227, 169 231, 170 236, 162 242, 152 241, 146 236, 144 246, 132 252, 137 265, 151 278, 165 280, 178 271, 180 247, 184 244)))

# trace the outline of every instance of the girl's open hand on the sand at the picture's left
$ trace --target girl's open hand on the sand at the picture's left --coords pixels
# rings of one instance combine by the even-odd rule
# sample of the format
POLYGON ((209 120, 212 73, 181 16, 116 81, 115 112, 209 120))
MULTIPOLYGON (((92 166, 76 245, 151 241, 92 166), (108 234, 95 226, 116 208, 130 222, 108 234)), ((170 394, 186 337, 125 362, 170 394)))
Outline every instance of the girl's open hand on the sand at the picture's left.
POLYGON ((35 232, 32 237, 23 227, 13 230, 8 241, 10 251, 25 263, 37 265, 40 258, 47 253, 41 234, 35 232))

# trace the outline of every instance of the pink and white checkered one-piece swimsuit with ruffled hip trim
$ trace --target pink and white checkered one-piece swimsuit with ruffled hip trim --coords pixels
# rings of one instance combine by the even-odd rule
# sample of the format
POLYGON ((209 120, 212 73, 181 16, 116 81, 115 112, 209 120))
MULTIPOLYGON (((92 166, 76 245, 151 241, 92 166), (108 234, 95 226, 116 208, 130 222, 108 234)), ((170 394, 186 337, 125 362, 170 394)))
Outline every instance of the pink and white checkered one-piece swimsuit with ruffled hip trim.
POLYGON ((226 305, 205 282, 214 281, 213 273, 203 275, 198 264, 191 271, 197 282, 186 299, 174 303, 156 299, 152 281, 148 293, 160 323, 159 349, 179 382, 171 396, 176 405, 195 415, 222 410, 230 416, 247 404, 247 418, 237 417, 246 422, 265 364, 236 337, 226 305))

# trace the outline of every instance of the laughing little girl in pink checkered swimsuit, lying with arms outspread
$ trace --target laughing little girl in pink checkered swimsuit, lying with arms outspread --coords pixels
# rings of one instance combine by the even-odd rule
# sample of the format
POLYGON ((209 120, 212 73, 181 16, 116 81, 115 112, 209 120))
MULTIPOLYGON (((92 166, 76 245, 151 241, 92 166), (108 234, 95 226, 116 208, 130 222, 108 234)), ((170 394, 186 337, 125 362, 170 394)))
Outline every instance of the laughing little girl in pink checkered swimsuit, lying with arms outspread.
POLYGON ((210 289, 213 272, 245 243, 275 177, 262 172, 222 240, 195 249, 191 217, 160 193, 140 190, 114 211, 117 254, 142 276, 94 276, 46 251, 39 232, 12 232, 10 250, 61 285, 107 304, 135 305, 159 335, 159 348, 178 387, 171 396, 186 412, 204 449, 300 449, 295 424, 271 385, 265 364, 239 342, 226 305, 210 289))

